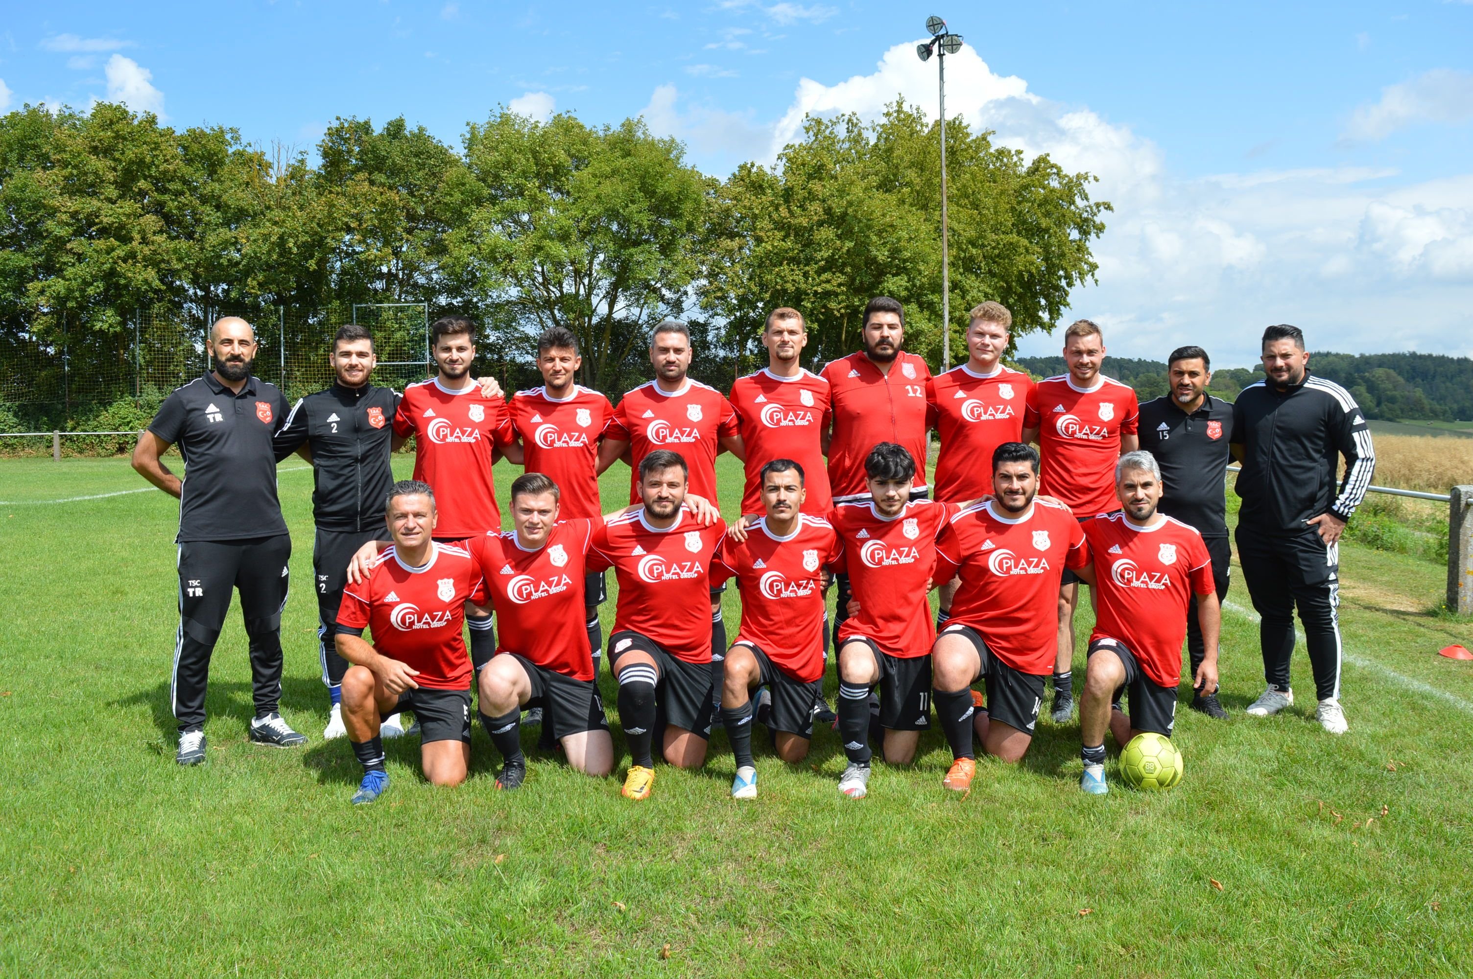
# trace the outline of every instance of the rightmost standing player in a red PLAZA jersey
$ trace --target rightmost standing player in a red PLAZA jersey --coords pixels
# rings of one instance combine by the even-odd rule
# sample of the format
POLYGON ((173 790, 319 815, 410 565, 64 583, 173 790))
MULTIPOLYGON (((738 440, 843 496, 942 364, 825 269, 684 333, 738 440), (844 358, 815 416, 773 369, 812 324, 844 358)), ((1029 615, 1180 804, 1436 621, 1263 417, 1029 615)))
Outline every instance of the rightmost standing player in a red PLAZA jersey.
MULTIPOLYGON (((1099 325, 1078 319, 1064 331, 1069 372, 1038 381, 1028 393, 1022 442, 1043 452, 1041 493, 1062 501, 1077 520, 1119 508, 1115 501, 1115 459, 1140 448, 1136 434, 1136 392, 1100 374, 1105 336, 1099 325)), ((1064 573, 1059 587, 1058 654, 1053 662, 1053 723, 1074 714, 1074 608, 1078 579, 1064 573)))

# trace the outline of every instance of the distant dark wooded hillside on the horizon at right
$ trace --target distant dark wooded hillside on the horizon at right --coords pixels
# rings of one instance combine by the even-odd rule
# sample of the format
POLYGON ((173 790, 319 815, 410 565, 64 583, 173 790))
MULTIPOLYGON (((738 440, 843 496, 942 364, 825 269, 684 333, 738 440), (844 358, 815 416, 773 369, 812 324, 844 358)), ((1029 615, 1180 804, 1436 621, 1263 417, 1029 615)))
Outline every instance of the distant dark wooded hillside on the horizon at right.
MULTIPOLYGON (((1016 364, 1037 377, 1068 370, 1062 356, 1022 356, 1016 364)), ((1309 368, 1346 387, 1368 418, 1473 420, 1473 359, 1466 356, 1312 352, 1309 368)), ((1105 374, 1134 387, 1142 400, 1167 393, 1161 361, 1112 356, 1105 361, 1105 374)), ((1259 377, 1261 367, 1217 368, 1209 390, 1231 399, 1259 377)))

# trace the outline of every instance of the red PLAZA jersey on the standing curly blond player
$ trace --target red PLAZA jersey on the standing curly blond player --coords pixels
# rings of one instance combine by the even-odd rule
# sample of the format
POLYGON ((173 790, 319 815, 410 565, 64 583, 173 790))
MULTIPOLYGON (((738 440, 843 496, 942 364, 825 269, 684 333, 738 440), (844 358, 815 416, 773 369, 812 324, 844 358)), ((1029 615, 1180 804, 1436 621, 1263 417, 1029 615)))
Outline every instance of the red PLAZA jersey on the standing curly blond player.
POLYGON ((993 452, 1022 439, 1033 378, 997 365, 978 374, 966 364, 927 383, 927 425, 941 434, 935 499, 965 502, 993 492, 993 452))

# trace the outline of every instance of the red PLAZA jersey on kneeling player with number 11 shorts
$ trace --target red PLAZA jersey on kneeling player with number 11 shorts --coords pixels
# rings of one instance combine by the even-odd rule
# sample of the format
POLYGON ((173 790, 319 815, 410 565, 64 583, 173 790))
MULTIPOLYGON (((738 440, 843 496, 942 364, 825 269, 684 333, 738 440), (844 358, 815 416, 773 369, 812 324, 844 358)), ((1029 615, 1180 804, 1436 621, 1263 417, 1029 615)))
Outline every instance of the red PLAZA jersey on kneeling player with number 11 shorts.
POLYGON ((935 534, 959 508, 916 499, 894 517, 882 517, 873 501, 840 503, 829 523, 844 554, 835 565, 848 573, 848 587, 859 614, 838 627, 838 640, 873 639, 881 651, 900 660, 931 652, 935 621, 931 618, 931 573, 935 570, 935 534))

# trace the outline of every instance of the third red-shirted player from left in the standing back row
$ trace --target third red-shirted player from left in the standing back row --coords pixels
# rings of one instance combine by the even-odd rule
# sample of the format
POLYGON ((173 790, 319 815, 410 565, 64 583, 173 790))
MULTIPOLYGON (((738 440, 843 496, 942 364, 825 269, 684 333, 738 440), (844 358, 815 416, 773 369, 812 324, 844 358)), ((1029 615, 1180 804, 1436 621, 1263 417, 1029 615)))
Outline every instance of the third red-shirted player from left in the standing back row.
MULTIPOLYGON (((716 499, 716 456, 731 452, 745 458, 739 423, 731 402, 714 387, 686 377, 691 370, 691 330, 679 319, 666 319, 650 340, 654 380, 620 399, 598 450, 598 471, 630 452, 629 502, 638 503, 639 465, 658 449, 678 452, 689 471, 689 492, 716 499)), ((726 648, 726 623, 722 620, 722 586, 711 592, 711 648, 726 648)))

